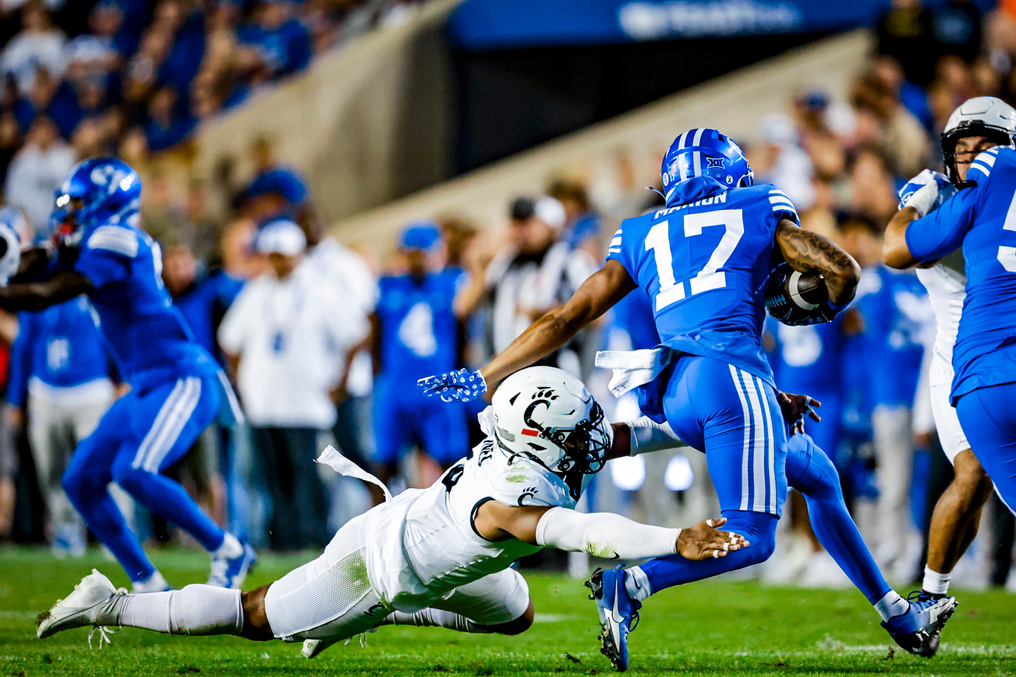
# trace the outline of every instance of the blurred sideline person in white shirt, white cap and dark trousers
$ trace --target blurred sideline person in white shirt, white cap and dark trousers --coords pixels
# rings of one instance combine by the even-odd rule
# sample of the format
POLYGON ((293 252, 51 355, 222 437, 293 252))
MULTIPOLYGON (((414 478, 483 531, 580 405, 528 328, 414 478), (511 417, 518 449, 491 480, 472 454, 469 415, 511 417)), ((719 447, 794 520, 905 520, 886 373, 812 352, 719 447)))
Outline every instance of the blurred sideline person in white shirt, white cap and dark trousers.
POLYGON ((273 509, 273 547, 292 550, 327 542, 324 488, 314 466, 317 436, 335 421, 331 392, 344 358, 367 326, 314 266, 302 263, 307 241, 280 218, 257 235, 269 271, 250 281, 218 328, 251 426, 256 474, 273 509))

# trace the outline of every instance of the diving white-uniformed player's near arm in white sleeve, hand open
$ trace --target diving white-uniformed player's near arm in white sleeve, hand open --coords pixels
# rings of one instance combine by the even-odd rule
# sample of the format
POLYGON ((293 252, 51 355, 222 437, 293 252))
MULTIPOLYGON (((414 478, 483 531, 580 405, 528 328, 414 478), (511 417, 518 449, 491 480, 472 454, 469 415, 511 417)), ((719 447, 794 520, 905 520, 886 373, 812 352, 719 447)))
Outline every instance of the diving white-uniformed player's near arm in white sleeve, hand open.
POLYGON ((533 545, 587 552, 609 559, 680 554, 699 560, 723 557, 731 550, 749 545, 739 534, 715 528, 725 522, 725 519, 706 520, 688 529, 664 529, 613 513, 578 513, 543 505, 520 507, 488 500, 478 509, 473 527, 491 540, 514 536, 533 545))

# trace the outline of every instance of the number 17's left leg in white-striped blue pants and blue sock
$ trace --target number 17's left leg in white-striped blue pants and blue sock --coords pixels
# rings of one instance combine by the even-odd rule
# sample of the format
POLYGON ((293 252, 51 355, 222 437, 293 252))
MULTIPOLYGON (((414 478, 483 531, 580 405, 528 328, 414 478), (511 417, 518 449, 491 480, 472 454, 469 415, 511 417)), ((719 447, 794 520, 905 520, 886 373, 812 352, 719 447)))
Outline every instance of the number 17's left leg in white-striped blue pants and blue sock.
POLYGON ((654 592, 765 561, 776 545, 776 521, 786 497, 786 429, 772 386, 726 362, 684 355, 663 395, 671 427, 705 450, 723 526, 751 546, 724 557, 691 561, 681 555, 640 566, 654 592))

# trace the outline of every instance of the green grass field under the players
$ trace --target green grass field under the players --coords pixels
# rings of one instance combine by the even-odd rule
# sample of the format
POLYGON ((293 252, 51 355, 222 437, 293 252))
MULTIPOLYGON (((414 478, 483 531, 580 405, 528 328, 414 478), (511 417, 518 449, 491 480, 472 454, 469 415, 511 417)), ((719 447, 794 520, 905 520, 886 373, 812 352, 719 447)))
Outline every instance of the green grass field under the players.
MULTIPOLYGON (((155 553, 171 583, 200 583, 201 553, 155 553)), ((302 563, 265 555, 248 579, 257 587, 302 563)), ((383 627, 367 647, 354 639, 313 661, 299 645, 238 637, 180 637, 126 628, 89 650, 87 630, 36 638, 36 614, 92 567, 117 585, 120 567, 98 553, 57 561, 42 549, 0 550, 0 677, 6 675, 558 675, 609 674, 592 603, 580 582, 527 574, 536 623, 516 637, 440 628, 383 627)), ((931 660, 892 651, 860 593, 773 588, 754 582, 698 583, 645 605, 632 633, 635 675, 1016 675, 1016 596, 959 591, 960 607, 931 660)), ((97 635, 98 637, 98 635, 97 635)))

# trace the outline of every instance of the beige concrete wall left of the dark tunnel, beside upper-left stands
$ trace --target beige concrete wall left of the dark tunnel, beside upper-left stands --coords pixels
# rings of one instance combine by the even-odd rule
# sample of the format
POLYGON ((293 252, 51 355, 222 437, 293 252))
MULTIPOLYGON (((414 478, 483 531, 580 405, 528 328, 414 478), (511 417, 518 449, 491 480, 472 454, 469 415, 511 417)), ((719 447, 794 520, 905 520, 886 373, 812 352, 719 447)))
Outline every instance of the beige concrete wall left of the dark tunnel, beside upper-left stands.
POLYGON ((204 125, 196 172, 233 184, 250 177, 248 148, 277 142, 329 220, 362 212, 450 176, 451 73, 444 26, 461 0, 422 5, 404 25, 356 38, 299 77, 204 125))

